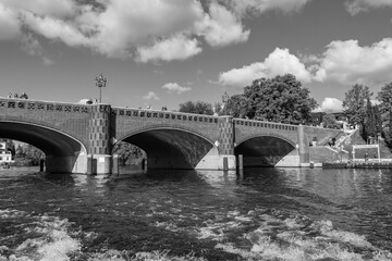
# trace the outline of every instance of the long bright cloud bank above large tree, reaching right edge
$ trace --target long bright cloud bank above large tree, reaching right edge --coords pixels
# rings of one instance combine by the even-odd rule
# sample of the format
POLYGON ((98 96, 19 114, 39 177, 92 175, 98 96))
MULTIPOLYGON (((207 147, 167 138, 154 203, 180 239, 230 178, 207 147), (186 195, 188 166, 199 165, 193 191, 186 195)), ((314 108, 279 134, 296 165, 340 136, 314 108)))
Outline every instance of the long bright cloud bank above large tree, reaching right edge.
POLYGON ((260 77, 291 73, 303 83, 335 83, 340 85, 380 85, 391 80, 392 38, 371 46, 357 40, 332 41, 322 54, 298 59, 287 49, 277 48, 264 62, 221 72, 219 84, 244 87, 260 77))

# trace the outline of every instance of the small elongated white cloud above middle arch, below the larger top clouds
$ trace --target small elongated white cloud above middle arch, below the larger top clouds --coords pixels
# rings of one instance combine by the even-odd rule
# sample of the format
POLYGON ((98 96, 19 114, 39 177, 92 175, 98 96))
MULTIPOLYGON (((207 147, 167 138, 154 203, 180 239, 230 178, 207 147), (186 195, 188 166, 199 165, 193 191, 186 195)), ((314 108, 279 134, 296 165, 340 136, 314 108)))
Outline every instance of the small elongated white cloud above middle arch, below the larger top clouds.
POLYGON ((137 61, 172 61, 185 60, 201 51, 196 39, 188 39, 184 35, 176 35, 169 39, 155 42, 154 46, 137 48, 137 61))

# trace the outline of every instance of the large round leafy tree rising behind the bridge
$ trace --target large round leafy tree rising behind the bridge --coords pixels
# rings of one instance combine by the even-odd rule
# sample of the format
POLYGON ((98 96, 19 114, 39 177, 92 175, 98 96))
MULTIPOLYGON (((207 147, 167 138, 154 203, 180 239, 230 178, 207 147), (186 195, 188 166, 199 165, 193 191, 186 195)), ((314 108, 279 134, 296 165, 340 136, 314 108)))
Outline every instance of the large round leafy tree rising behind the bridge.
POLYGON ((245 87, 246 116, 255 120, 299 124, 308 121, 315 99, 294 75, 255 79, 245 87))

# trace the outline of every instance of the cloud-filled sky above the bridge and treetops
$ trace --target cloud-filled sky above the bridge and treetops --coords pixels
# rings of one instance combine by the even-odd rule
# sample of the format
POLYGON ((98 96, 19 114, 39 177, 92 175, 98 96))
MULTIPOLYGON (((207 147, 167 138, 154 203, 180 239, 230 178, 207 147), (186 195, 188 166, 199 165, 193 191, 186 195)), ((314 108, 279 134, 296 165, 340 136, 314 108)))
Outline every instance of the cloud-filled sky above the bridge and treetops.
POLYGON ((0 96, 177 110, 291 73, 317 111, 392 82, 392 0, 0 0, 0 96))

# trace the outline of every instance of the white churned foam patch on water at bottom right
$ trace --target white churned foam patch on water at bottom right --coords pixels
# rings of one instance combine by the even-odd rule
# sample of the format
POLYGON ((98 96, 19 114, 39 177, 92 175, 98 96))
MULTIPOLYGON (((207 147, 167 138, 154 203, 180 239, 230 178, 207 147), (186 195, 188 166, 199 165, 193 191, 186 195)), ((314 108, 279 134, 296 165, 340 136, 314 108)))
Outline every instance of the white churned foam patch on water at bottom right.
MULTIPOLYGON (((224 235, 219 235, 221 240, 216 245, 217 249, 250 260, 392 260, 391 252, 376 248, 366 240, 365 236, 334 228, 331 221, 315 222, 306 216, 286 217, 287 214, 279 212, 272 212, 273 215, 257 214, 256 210, 247 214, 252 216, 243 216, 236 211, 231 211, 228 216, 243 222, 249 222, 253 217, 258 220, 260 226, 257 229, 243 234, 252 247, 246 249, 243 246, 236 246, 235 243, 224 240, 224 235)), ((212 226, 207 226, 207 228, 215 229, 212 226)), ((224 232, 224 229, 221 231, 224 232)), ((206 228, 200 232, 206 235, 204 238, 215 236, 208 234, 206 228)))

